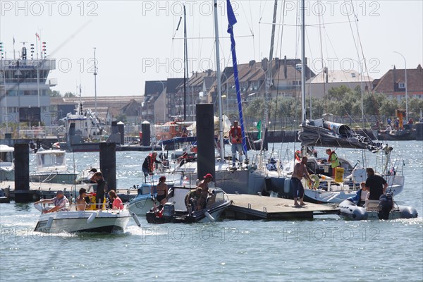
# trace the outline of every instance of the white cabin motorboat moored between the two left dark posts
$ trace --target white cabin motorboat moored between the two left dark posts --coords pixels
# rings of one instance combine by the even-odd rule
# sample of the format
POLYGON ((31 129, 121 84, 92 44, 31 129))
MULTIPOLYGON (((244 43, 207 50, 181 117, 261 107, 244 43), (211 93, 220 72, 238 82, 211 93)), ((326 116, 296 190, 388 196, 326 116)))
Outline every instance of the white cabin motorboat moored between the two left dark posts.
POLYGON ((75 184, 78 173, 68 171, 66 151, 60 149, 39 150, 37 168, 30 173, 30 181, 38 183, 75 184))

